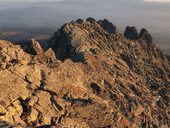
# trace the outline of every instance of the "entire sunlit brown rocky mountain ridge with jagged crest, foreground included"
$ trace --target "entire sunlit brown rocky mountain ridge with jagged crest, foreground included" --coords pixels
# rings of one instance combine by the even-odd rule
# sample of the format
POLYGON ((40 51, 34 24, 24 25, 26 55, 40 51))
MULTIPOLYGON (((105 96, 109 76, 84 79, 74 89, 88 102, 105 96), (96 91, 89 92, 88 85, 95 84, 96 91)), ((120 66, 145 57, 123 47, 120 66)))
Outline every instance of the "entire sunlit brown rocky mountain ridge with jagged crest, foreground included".
POLYGON ((43 50, 0 41, 0 126, 168 128, 170 65, 146 29, 64 24, 43 50))

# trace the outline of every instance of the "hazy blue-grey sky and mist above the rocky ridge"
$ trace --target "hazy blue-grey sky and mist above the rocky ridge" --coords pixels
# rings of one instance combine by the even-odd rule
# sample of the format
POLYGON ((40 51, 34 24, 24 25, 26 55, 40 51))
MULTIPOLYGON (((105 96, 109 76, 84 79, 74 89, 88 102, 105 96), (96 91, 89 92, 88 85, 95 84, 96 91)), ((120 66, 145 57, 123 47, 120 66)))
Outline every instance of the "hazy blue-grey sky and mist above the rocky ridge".
POLYGON ((107 18, 122 30, 133 25, 170 37, 170 0, 0 0, 0 29, 56 29, 87 17, 107 18))

